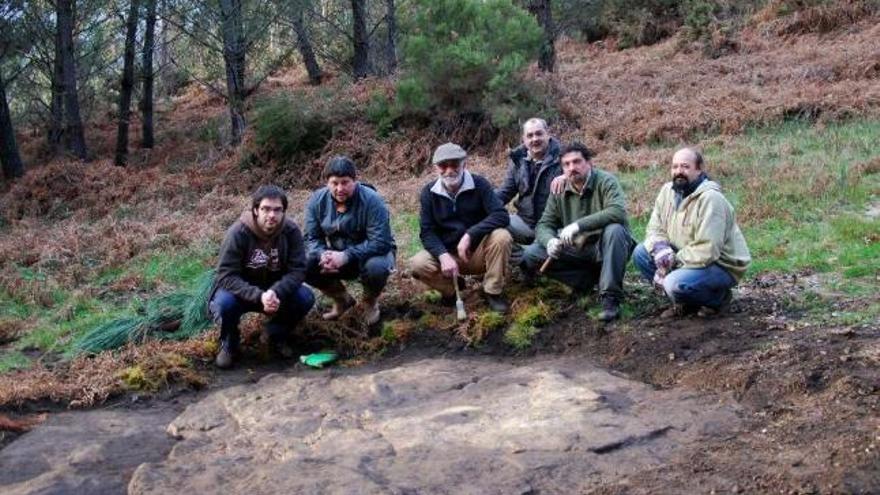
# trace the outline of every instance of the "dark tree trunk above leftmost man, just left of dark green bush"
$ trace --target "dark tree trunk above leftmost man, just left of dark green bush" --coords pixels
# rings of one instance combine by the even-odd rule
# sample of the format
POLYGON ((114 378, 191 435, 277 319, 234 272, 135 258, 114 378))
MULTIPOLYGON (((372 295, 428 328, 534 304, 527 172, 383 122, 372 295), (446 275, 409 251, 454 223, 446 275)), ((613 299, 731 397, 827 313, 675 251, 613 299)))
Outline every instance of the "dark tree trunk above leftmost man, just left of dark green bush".
POLYGON ((244 135, 244 87, 245 44, 242 27, 241 0, 220 0, 221 34, 223 36, 223 61, 226 65, 226 92, 229 99, 231 142, 241 143, 244 135))

